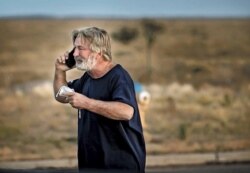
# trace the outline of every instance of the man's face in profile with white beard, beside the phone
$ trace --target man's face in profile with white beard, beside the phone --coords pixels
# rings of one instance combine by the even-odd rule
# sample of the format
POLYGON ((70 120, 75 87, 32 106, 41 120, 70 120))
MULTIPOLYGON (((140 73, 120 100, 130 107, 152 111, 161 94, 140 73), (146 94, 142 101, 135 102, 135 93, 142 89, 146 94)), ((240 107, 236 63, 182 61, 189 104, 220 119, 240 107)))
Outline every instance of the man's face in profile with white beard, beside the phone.
POLYGON ((96 65, 96 53, 89 49, 89 43, 80 37, 75 39, 74 57, 78 70, 90 71, 96 65))

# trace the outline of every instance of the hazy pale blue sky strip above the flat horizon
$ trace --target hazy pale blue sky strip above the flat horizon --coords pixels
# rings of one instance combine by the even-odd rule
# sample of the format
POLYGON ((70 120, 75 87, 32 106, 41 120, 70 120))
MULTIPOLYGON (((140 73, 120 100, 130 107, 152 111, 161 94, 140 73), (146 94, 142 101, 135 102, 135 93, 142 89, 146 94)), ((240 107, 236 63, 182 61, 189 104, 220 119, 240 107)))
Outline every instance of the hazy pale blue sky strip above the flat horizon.
POLYGON ((250 0, 0 0, 0 17, 250 17, 250 0))

